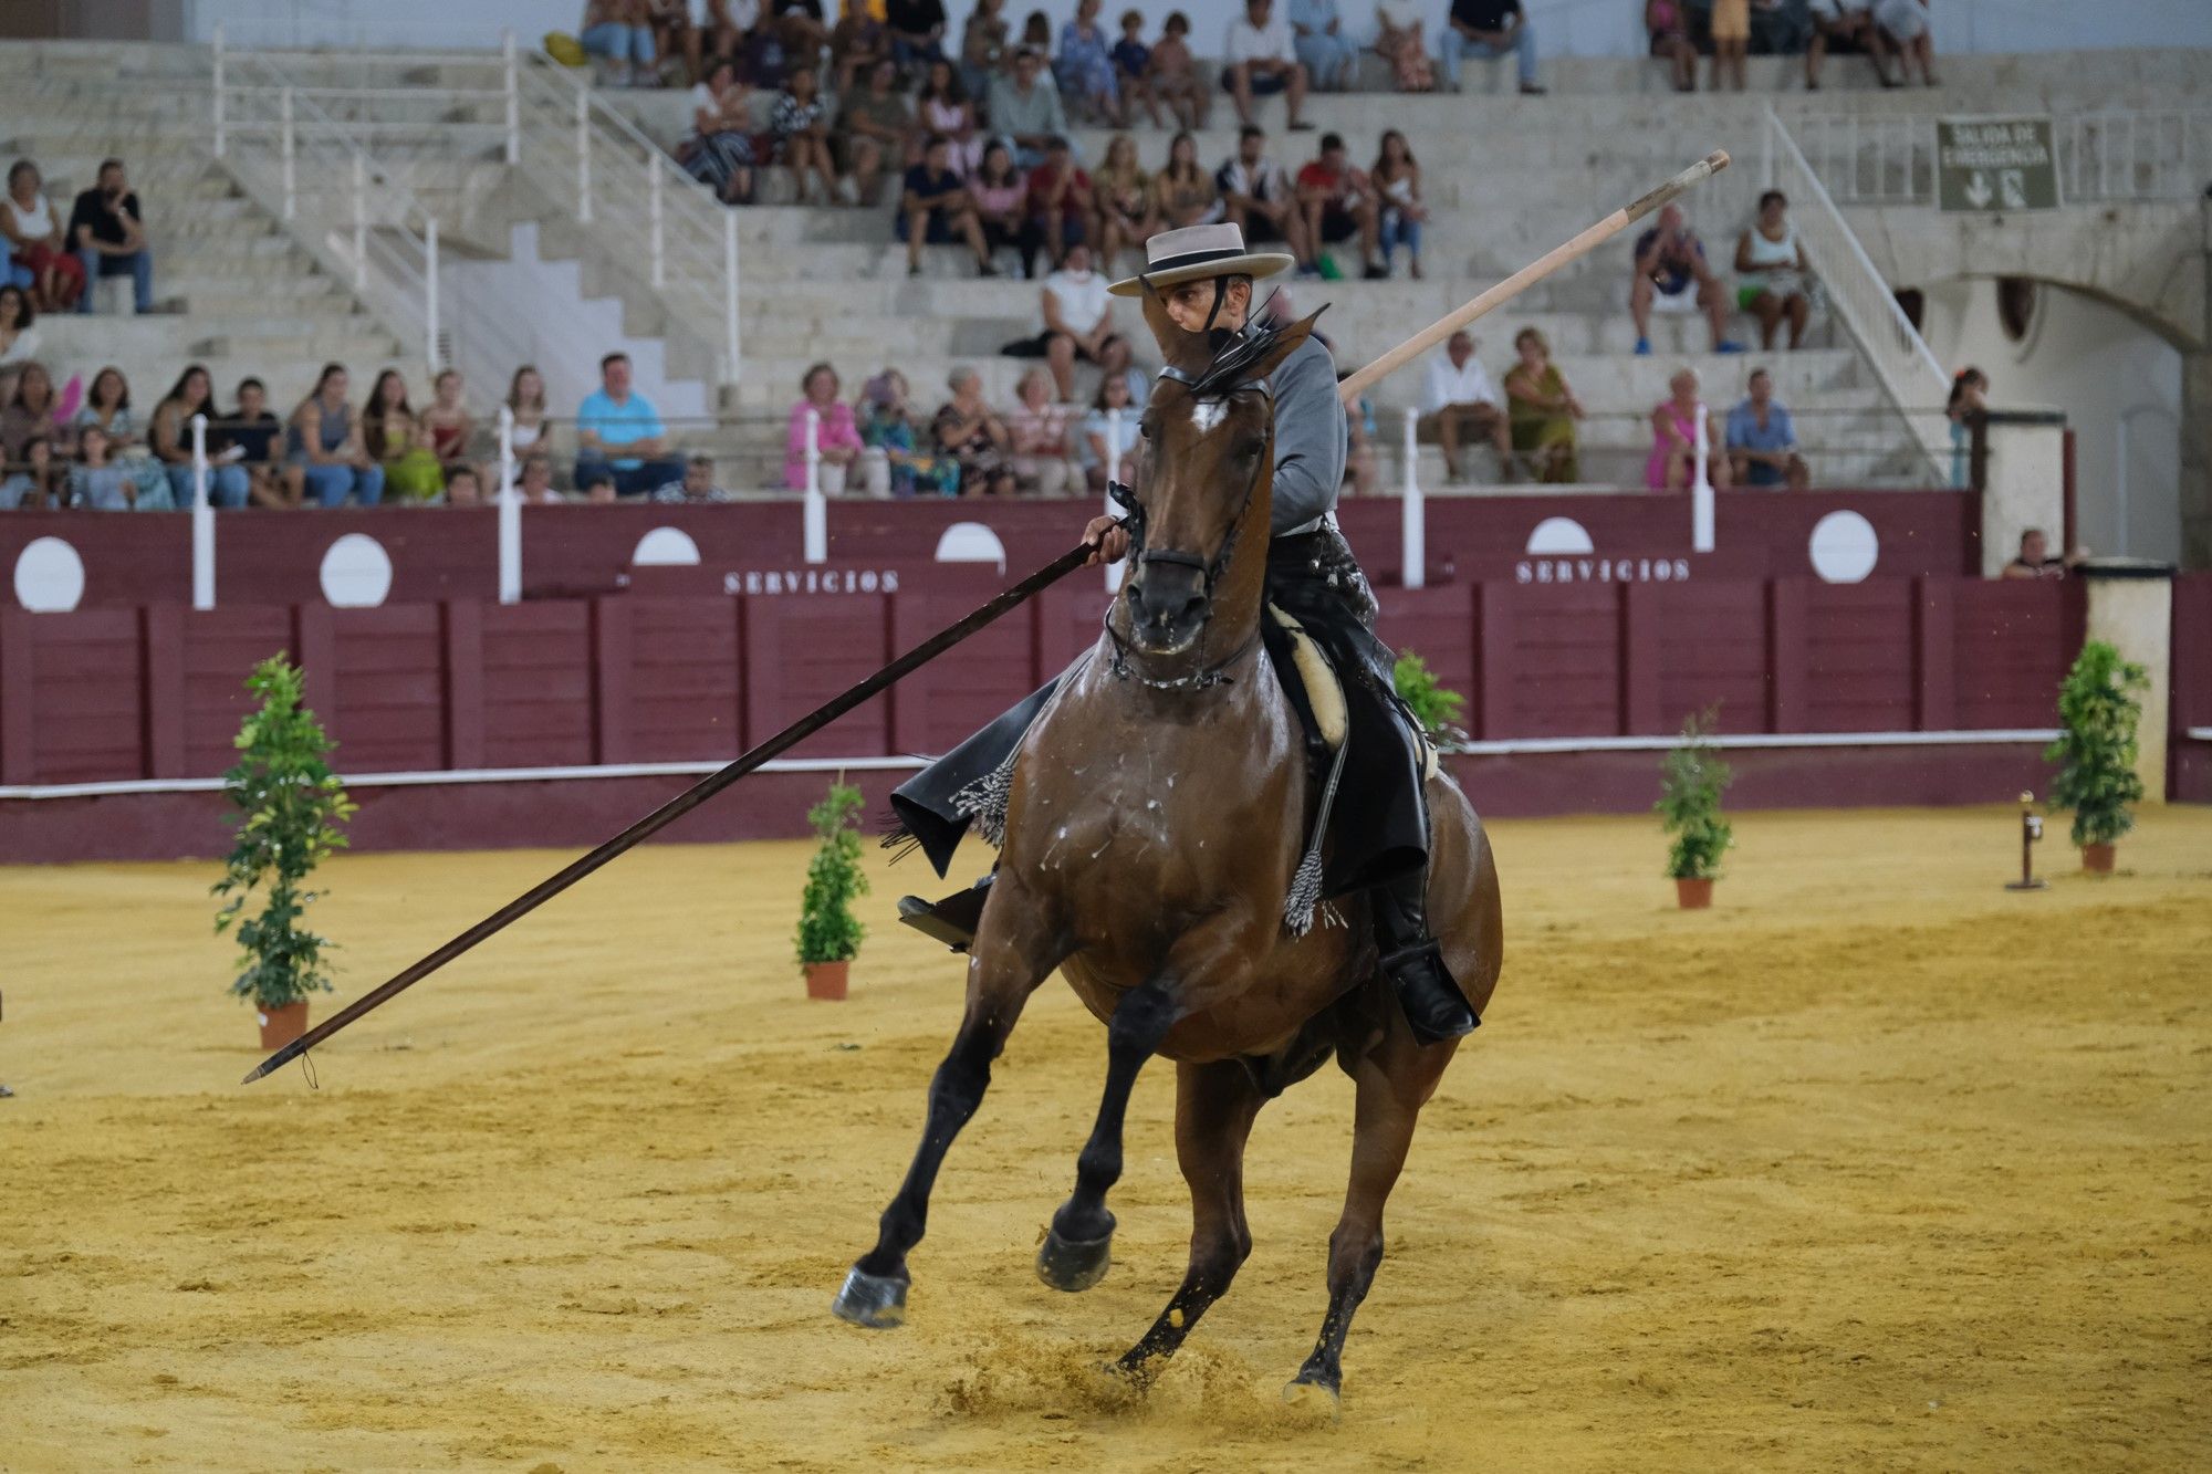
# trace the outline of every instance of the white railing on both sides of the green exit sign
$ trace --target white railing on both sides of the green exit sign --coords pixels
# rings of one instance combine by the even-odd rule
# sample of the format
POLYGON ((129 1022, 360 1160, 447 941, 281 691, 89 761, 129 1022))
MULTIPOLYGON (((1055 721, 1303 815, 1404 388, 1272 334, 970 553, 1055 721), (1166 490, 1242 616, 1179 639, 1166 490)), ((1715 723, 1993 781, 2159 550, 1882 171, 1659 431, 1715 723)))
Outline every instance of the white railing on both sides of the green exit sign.
MULTIPOLYGON (((1836 204, 1936 201, 1936 117, 1807 115, 1794 133, 1836 204)), ((2053 117, 2064 204, 2183 201, 2212 184, 2212 108, 2053 117)))

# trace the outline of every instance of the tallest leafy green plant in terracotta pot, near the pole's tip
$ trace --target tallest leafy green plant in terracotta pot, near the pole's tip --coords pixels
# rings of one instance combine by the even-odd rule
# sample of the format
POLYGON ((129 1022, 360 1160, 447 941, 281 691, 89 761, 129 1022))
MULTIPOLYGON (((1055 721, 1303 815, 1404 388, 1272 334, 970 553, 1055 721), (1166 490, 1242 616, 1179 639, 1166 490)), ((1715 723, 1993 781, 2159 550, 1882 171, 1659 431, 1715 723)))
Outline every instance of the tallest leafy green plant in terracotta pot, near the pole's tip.
POLYGON ((246 691, 261 706, 239 726, 239 764, 223 775, 239 834, 215 883, 215 894, 228 896, 215 930, 237 923, 243 956, 230 992, 252 1000, 261 1047, 283 1049, 307 1031, 307 994, 330 992, 323 952, 332 943, 301 925, 319 894, 305 881, 332 850, 345 848, 338 826, 354 817, 354 801, 325 764, 334 744, 301 706, 299 666, 272 655, 254 666, 246 691), (265 901, 261 914, 241 918, 257 890, 265 901))

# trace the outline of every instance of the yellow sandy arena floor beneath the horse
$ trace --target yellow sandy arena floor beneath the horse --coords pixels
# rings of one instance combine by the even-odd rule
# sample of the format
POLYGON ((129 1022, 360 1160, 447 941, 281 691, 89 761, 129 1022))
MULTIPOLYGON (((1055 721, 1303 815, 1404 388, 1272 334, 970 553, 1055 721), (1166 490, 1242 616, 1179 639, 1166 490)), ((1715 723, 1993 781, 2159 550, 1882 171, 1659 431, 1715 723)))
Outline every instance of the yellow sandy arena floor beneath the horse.
MULTIPOLYGON (((1646 821, 1502 823, 1506 972, 1429 1107, 1338 1425, 1279 1401, 1349 1140, 1261 1118, 1259 1250, 1146 1405, 1181 1273, 1170 1071, 1104 1286, 1031 1253, 1104 1067, 1037 996, 916 1253, 960 965, 790 956, 803 845, 659 848, 252 1089, 212 865, 0 870, 0 1470, 2183 1470, 2212 1463, 2212 812, 2000 890, 2006 812, 1750 814, 1710 914, 1646 821)), ((349 998, 549 872, 352 857, 349 998)), ((330 1005, 319 1005, 327 1011, 330 1005)))

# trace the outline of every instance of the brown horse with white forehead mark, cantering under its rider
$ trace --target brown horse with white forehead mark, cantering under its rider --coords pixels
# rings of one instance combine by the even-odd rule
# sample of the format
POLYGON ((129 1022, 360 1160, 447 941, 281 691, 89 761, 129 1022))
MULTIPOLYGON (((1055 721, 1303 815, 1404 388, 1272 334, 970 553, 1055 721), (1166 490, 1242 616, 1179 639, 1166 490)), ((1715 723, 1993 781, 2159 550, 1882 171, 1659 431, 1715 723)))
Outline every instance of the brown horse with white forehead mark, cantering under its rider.
MULTIPOLYGON (((1228 383, 1210 341, 1157 297, 1170 365, 1144 416, 1144 547, 1106 635, 1037 717, 1013 768, 998 881, 969 956, 967 1014, 929 1084, 929 1122, 876 1246, 836 1315, 905 1319, 907 1253, 991 1060, 1057 967, 1106 1023, 1106 1093, 1053 1215, 1037 1273, 1062 1290, 1106 1275, 1121 1120, 1137 1071, 1177 1062, 1175 1146, 1190 1184, 1190 1268, 1117 1368, 1146 1383, 1252 1250, 1243 1151, 1259 1109, 1332 1053, 1356 1082, 1352 1188, 1329 1237, 1329 1308, 1290 1392, 1343 1381, 1352 1312, 1383 1262, 1383 1204, 1455 1040, 1420 1045, 1378 972, 1365 903, 1303 936, 1285 896, 1312 817, 1298 717, 1261 653, 1274 416, 1263 385, 1312 332, 1285 330, 1228 383), (1177 378, 1179 374, 1181 378, 1177 378)), ((1356 679, 1347 675, 1347 679, 1356 679)), ((1502 956, 1498 872, 1473 808, 1429 779, 1429 916, 1480 1014, 1502 956)))

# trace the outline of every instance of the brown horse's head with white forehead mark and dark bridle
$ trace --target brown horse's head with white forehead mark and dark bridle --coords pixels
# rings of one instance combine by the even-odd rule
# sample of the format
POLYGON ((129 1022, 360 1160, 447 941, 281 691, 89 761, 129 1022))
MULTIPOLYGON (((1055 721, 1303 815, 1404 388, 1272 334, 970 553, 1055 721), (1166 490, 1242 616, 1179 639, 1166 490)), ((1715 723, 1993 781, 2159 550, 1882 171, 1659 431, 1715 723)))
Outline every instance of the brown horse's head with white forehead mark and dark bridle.
MULTIPOLYGON (((1318 312, 1314 316, 1321 316, 1318 312)), ((1128 642, 1148 655, 1188 651, 1212 615, 1239 533, 1265 549, 1274 476, 1274 405, 1265 378, 1305 343, 1307 316, 1281 332, 1232 339, 1188 332, 1146 286, 1144 319, 1168 367, 1144 412, 1141 551, 1121 587, 1128 642)), ((1263 558, 1248 560, 1254 617, 1263 558)))

